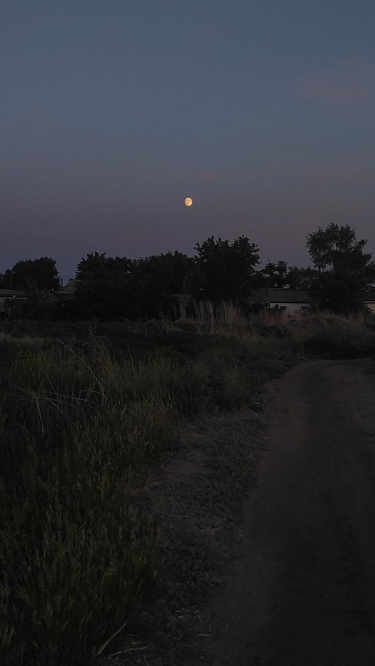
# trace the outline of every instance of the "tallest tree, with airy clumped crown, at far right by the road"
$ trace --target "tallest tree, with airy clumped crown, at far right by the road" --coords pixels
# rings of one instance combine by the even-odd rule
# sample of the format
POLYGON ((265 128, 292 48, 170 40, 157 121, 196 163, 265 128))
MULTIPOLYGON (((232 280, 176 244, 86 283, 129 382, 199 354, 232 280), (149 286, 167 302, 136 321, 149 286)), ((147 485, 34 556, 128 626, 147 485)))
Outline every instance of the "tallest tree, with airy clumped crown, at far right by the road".
POLYGON ((307 248, 318 271, 322 306, 344 312, 360 307, 360 292, 375 280, 375 262, 364 252, 367 240, 357 240, 352 226, 331 222, 308 234, 307 248))

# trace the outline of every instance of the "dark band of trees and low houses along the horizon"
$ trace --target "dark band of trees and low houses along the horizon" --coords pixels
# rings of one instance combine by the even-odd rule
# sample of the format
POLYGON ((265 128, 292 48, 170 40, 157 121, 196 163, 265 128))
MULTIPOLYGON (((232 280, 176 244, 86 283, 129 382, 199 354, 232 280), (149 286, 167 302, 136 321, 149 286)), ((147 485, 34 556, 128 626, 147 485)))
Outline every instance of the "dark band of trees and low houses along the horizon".
POLYGON ((0 274, 0 317, 53 320, 147 320, 192 316, 194 303, 223 302, 244 312, 375 314, 375 262, 350 225, 331 222, 306 236, 312 266, 260 264, 246 236, 210 236, 194 246, 139 259, 90 252, 63 285, 51 257, 17 262, 0 274), (13 288, 12 288, 13 287, 13 288))

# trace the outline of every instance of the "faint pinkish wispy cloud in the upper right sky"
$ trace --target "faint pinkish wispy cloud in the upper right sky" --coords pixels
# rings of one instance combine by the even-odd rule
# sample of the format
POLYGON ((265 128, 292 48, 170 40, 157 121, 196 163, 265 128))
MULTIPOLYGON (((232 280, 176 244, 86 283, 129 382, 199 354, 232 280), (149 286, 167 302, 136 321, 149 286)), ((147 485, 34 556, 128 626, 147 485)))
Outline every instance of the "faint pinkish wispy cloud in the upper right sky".
POLYGON ((361 57, 346 58, 327 69, 296 81, 302 99, 316 100, 355 111, 375 107, 375 62, 361 57))

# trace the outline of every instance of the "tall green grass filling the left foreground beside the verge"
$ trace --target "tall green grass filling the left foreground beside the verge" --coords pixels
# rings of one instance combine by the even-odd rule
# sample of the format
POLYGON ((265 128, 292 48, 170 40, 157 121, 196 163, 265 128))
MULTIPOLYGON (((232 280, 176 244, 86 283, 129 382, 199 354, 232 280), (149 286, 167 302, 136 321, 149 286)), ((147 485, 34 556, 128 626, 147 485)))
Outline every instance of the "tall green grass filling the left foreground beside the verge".
MULTIPOLYGON (((4 341, 3 341, 4 342, 4 341)), ((95 663, 153 591, 163 533, 129 500, 179 419, 255 390, 225 358, 5 341, 0 663, 95 663)), ((257 387, 258 388, 258 387, 257 387)))

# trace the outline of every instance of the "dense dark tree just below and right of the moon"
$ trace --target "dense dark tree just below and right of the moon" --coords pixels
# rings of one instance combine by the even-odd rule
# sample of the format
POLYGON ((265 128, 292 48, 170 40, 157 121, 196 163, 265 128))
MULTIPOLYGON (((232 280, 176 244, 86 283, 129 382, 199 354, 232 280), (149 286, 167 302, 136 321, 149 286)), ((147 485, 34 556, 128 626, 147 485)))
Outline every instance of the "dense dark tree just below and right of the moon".
POLYGON ((210 236, 202 244, 196 243, 198 283, 196 298, 234 300, 246 302, 253 288, 255 266, 259 263, 259 248, 246 236, 238 236, 232 244, 228 240, 214 240, 210 236))

